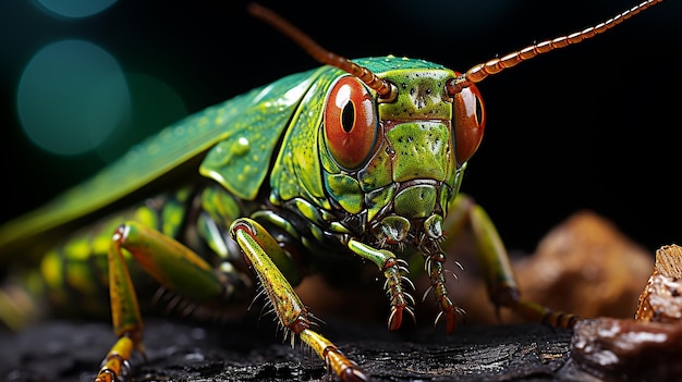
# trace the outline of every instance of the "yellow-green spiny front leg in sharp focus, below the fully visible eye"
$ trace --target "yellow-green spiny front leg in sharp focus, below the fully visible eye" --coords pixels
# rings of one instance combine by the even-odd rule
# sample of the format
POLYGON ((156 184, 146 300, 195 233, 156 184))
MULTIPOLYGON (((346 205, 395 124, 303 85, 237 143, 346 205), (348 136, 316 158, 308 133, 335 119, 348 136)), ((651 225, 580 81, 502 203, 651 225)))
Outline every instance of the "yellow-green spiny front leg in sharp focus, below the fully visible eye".
POLYGON ((275 238, 251 219, 238 219, 232 223, 230 232, 256 272, 280 323, 293 333, 292 344, 294 335, 297 335, 325 360, 328 370, 333 370, 343 381, 366 381, 367 377, 355 362, 343 356, 330 341, 310 329, 307 309, 271 259, 285 258, 275 238))

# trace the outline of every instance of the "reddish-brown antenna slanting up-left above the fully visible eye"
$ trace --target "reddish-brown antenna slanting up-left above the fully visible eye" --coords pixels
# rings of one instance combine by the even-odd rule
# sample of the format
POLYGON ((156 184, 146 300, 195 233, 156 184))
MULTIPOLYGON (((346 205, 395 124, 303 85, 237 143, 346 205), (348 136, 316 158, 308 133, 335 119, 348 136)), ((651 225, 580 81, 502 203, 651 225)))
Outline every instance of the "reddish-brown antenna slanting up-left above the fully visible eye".
POLYGON ((380 101, 391 102, 398 95, 398 89, 390 82, 379 78, 367 67, 361 66, 344 57, 332 53, 320 47, 301 29, 296 28, 271 10, 260 4, 251 3, 248 4, 248 12, 287 35, 315 60, 324 64, 339 67, 358 77, 362 82, 367 84, 367 86, 377 91, 380 101))

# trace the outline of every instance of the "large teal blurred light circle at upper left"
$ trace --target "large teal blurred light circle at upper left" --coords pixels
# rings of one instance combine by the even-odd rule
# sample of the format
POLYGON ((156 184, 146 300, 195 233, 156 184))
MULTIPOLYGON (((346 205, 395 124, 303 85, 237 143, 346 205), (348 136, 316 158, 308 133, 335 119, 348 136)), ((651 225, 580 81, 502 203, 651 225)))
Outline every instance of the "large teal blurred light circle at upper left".
POLYGON ((26 135, 59 155, 93 150, 130 120, 131 96, 117 60, 83 40, 38 51, 22 73, 16 108, 26 135))

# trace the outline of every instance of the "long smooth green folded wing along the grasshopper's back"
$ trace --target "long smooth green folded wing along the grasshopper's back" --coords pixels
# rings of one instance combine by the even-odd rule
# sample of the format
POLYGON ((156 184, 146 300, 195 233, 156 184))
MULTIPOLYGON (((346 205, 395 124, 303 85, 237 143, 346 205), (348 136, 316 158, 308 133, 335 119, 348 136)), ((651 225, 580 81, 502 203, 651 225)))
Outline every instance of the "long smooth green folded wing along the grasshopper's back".
MULTIPOLYGON (((172 177, 169 174, 187 163, 196 165, 204 156, 202 174, 239 197, 253 199, 268 174, 276 145, 317 71, 290 75, 190 115, 134 147, 85 183, 0 227, 0 263, 9 260, 3 256, 23 251, 24 245, 41 239, 41 235, 172 177)), ((187 171, 197 175, 196 167, 187 171)))

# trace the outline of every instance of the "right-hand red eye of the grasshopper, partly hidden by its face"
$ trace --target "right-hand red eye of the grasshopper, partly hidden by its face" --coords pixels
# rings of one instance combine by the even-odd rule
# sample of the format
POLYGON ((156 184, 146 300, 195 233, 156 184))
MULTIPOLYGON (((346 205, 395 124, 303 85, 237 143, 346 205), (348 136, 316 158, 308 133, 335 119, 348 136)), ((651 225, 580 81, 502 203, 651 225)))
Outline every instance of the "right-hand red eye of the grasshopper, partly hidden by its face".
POLYGON ((467 161, 480 144, 486 127, 486 113, 480 93, 474 85, 452 95, 454 148, 458 163, 467 161))

